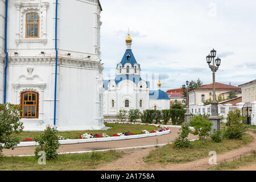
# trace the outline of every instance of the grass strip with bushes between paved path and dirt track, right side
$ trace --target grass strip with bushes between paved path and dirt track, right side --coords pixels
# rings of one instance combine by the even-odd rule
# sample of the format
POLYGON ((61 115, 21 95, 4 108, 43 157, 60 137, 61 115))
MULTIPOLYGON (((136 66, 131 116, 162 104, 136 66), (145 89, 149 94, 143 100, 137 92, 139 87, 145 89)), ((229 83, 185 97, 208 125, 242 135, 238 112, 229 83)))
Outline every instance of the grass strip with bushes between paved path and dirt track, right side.
POLYGON ((206 140, 205 145, 201 144, 201 140, 195 140, 191 148, 176 148, 173 144, 159 147, 151 151, 145 158, 148 163, 188 163, 193 160, 206 158, 209 151, 216 151, 217 154, 233 150, 248 144, 253 138, 246 134, 241 140, 224 139, 222 143, 215 143, 212 140, 206 140))

